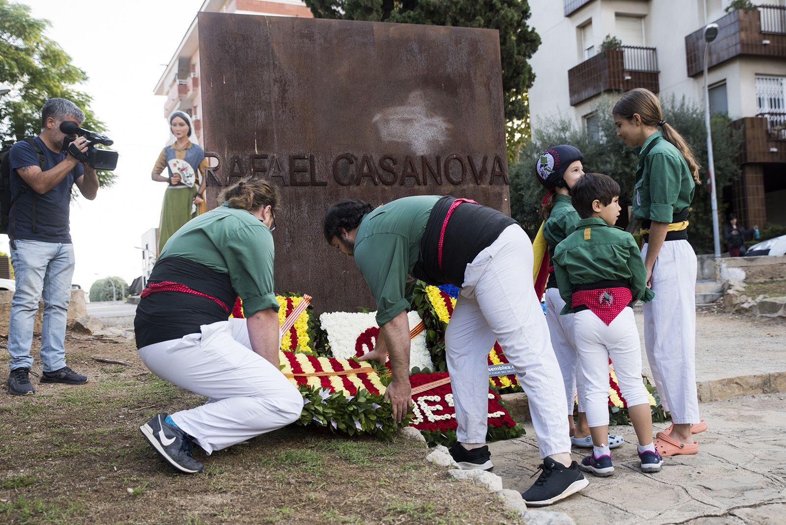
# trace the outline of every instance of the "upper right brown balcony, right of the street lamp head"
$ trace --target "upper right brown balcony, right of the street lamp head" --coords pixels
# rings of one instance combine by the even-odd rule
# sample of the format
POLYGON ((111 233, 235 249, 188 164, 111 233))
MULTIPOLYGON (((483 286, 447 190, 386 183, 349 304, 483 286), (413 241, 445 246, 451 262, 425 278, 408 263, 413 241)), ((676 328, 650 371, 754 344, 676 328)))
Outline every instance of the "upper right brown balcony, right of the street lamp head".
MULTIPOLYGON (((718 37, 710 46, 710 68, 741 56, 786 58, 786 7, 736 9, 715 24, 718 37)), ((688 76, 699 75, 704 69, 703 29, 685 37, 688 76)))

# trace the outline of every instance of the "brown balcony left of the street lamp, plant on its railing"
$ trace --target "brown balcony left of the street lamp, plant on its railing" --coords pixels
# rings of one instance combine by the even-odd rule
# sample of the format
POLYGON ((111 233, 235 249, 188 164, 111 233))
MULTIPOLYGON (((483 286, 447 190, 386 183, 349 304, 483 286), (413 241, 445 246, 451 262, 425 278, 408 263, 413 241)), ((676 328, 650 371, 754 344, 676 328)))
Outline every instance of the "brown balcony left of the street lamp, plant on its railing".
POLYGON ((569 69, 567 84, 574 106, 607 91, 645 87, 657 93, 658 56, 654 47, 606 50, 569 69))

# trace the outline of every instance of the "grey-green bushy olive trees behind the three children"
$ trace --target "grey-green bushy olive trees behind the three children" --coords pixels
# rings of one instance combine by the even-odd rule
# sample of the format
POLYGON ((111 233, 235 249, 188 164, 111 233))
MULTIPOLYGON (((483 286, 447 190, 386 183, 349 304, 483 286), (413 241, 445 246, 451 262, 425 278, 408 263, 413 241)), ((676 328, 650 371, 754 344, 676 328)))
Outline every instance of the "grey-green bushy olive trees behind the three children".
MULTIPOLYGON (((597 138, 577 127, 571 119, 545 119, 538 123, 532 141, 522 149, 521 161, 511 169, 510 181, 511 215, 531 235, 538 231, 542 222, 541 200, 545 194, 543 186, 535 178, 534 163, 541 152, 553 145, 575 145, 584 156, 582 161, 584 171, 604 173, 619 182, 619 204, 623 207, 623 213, 632 204, 638 157, 633 148, 623 144, 623 141, 617 137, 611 112, 615 101, 604 99, 595 108, 600 130, 597 138)), ((690 104, 684 98, 678 101, 675 97, 663 97, 661 105, 663 118, 692 146, 701 164, 700 177, 703 184, 696 186, 691 204, 688 235, 689 242, 696 253, 711 253, 713 251, 712 213, 707 180, 709 177, 707 132, 704 128, 703 108, 690 104)), ((736 156, 740 152, 742 135, 740 131, 731 129, 730 122, 729 117, 722 115, 715 115, 711 119, 718 199, 722 197, 723 189, 731 185, 740 175, 736 156)), ((722 216, 725 215, 723 209, 720 213, 722 216)), ((628 229, 636 233, 637 227, 630 224, 628 229)))

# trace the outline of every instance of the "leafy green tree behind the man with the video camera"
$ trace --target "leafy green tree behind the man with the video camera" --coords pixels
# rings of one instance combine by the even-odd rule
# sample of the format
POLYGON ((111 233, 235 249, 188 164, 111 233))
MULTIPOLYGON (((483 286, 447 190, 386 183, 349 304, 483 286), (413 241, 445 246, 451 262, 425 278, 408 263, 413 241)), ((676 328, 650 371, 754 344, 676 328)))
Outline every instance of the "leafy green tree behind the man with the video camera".
MULTIPOLYGON (((92 98, 72 86, 87 75, 71 63, 57 42, 44 35, 49 20, 31 17, 30 8, 0 0, 0 80, 11 86, 0 95, 0 141, 17 142, 40 133, 41 108, 53 97, 68 98, 85 112, 83 127, 104 131, 104 123, 90 109, 92 98)), ((115 174, 99 171, 101 186, 115 174)))

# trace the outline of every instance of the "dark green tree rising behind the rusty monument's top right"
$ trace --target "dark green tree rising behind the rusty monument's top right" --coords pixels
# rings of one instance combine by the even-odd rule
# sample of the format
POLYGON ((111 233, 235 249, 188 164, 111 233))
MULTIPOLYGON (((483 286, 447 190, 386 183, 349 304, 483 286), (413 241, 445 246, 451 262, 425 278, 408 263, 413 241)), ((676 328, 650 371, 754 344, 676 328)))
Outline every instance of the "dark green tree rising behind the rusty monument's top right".
POLYGON ((527 0, 305 0, 316 18, 427 24, 499 31, 509 160, 529 138, 527 90, 535 75, 530 59, 540 37, 527 26, 527 0))

